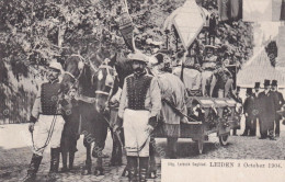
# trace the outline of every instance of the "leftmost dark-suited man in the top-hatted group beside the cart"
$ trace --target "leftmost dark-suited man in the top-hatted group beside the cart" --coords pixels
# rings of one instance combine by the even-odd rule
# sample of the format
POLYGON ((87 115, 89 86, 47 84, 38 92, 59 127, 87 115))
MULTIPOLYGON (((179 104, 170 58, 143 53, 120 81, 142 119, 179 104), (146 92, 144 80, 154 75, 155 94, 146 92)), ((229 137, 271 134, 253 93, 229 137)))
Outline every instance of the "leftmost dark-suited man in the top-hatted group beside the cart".
POLYGON ((252 107, 253 107, 253 96, 252 89, 247 88, 247 99, 243 104, 243 114, 246 115, 246 129, 241 136, 249 136, 251 128, 252 116, 252 107))

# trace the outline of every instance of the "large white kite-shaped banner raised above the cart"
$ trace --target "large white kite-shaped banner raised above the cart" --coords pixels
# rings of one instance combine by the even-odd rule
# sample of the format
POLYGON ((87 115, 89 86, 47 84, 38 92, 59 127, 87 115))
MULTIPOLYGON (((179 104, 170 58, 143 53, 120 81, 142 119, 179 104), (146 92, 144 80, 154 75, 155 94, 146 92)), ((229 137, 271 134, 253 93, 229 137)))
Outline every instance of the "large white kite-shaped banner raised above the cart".
POLYGON ((185 49, 197 37, 205 21, 205 14, 195 0, 187 0, 180 8, 178 14, 173 18, 173 23, 185 49))

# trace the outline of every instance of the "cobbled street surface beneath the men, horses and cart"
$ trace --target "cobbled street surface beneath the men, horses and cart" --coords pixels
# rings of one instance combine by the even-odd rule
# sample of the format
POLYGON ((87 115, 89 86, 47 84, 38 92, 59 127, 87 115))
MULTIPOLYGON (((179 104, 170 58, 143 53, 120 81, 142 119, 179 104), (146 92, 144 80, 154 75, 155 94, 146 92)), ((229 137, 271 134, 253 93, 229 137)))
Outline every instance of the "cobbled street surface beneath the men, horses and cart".
MULTIPOLYGON (((0 129, 0 181, 20 181, 26 173, 26 168, 30 163, 32 151, 29 147, 27 138, 19 137, 22 130, 25 130, 26 124, 23 125, 2 125, 0 129), (8 130, 10 130, 8 133, 8 130), (11 132, 13 130, 13 133, 11 132), (15 133, 15 130, 18 130, 15 133), (20 132, 20 133, 19 133, 20 132), (4 134, 3 134, 4 133, 4 134), (2 137, 4 136, 4 137, 2 137), (8 138, 10 141, 8 143, 8 138), (22 143, 25 140, 25 143, 22 143), (18 146, 18 147, 15 147, 18 146)), ((284 127, 284 126, 283 126, 284 127)), ((285 132, 282 128, 281 137, 277 140, 259 139, 256 137, 230 136, 229 144, 226 147, 219 146, 218 138, 215 135, 209 136, 209 140, 204 144, 204 153, 197 153, 197 146, 191 139, 180 139, 178 145, 178 157, 187 159, 273 159, 283 160, 285 151, 285 132)), ((238 130, 240 135, 241 130, 238 130)), ((23 134, 24 135, 24 134, 23 134)), ((166 150, 166 139, 156 139, 157 149, 166 150)), ((112 140, 109 135, 104 153, 111 155, 112 140)), ((105 174, 101 177, 81 175, 81 168, 84 163, 84 147, 82 137, 78 143, 79 151, 76 153, 75 172, 59 173, 58 181, 127 181, 127 178, 122 178, 121 174, 126 164, 124 158, 123 167, 109 167, 109 160, 104 159, 105 174)), ((95 160, 93 160, 94 166, 95 160)), ((157 156, 158 177, 160 181, 160 157, 157 156)), ((49 151, 46 149, 43 162, 39 167, 37 181, 45 181, 45 175, 49 170, 49 151)))

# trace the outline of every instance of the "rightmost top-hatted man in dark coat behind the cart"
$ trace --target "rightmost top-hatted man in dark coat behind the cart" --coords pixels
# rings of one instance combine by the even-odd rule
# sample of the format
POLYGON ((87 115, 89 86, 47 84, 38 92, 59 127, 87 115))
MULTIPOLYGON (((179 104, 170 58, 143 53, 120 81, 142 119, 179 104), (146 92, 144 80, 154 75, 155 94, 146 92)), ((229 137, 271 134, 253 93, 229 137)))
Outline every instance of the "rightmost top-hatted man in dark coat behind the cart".
POLYGON ((280 137, 280 121, 282 120, 282 116, 277 114, 276 112, 281 110, 283 104, 285 103, 283 94, 277 91, 277 80, 272 80, 272 92, 275 95, 275 136, 280 137))

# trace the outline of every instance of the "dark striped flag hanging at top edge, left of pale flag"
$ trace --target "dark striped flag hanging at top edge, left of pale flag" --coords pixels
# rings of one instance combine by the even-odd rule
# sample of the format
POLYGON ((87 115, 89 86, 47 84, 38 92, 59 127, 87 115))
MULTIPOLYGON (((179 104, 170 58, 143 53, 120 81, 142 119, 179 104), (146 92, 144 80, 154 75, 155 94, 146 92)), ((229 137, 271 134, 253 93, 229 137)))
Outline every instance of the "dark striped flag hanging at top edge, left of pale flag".
POLYGON ((233 21, 242 18, 242 0, 218 0, 219 20, 233 21))

